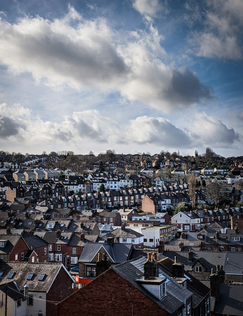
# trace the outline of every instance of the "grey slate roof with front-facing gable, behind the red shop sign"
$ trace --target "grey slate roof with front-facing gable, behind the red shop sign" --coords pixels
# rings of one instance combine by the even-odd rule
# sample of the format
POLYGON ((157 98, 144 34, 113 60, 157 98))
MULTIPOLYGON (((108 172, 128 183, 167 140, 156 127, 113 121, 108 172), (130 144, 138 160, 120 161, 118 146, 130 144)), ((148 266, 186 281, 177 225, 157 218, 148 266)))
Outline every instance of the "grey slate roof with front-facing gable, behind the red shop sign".
POLYGON ((91 262, 98 252, 106 252, 113 263, 122 263, 128 260, 131 249, 132 244, 86 243, 78 262, 91 262))

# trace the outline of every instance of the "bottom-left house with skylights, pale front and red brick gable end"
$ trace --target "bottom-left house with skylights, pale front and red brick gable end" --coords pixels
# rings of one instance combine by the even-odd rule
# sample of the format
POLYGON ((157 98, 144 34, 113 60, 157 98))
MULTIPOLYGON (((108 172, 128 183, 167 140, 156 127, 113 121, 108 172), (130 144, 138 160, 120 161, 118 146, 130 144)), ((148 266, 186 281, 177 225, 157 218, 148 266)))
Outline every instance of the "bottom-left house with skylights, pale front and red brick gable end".
POLYGON ((1 283, 14 281, 22 293, 24 286, 29 286, 27 304, 20 300, 17 305, 25 304, 24 315, 56 316, 57 306, 51 302, 62 301, 73 293, 74 280, 61 263, 0 262, 0 271, 1 283))

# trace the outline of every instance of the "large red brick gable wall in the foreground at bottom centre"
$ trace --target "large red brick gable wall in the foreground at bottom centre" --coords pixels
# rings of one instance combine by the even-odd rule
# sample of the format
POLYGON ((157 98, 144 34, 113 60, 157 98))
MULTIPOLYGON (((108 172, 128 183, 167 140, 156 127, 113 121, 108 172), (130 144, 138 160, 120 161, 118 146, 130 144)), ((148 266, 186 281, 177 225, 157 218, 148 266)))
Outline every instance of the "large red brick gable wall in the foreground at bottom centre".
MULTIPOLYGON (((58 304, 58 316, 169 315, 113 269, 58 304)), ((47 315, 47 314, 46 314, 47 315)))

